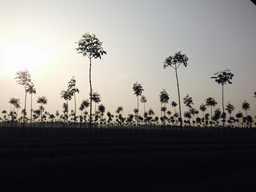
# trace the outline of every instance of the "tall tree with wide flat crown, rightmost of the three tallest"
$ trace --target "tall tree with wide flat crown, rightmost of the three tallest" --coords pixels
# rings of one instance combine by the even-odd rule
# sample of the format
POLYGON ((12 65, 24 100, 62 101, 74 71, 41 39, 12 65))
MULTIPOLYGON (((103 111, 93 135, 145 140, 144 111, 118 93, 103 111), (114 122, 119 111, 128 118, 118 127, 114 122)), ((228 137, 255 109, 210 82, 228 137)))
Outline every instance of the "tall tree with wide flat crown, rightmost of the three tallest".
MULTIPOLYGON (((234 77, 234 74, 230 72, 230 69, 225 69, 221 72, 215 72, 214 76, 211 79, 215 79, 215 82, 221 84, 222 87, 222 111, 224 111, 224 85, 232 84, 231 80, 234 77)), ((224 116, 224 115, 223 115, 224 116)), ((225 119, 223 118, 223 128, 225 127, 225 119)))

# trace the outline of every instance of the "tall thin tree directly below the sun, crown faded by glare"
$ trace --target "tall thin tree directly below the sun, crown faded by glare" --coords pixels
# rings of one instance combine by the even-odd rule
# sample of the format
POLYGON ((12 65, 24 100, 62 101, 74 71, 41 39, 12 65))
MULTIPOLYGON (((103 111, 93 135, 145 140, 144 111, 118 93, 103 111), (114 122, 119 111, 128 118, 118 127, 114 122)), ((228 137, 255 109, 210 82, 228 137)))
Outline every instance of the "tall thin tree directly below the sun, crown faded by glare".
POLYGON ((22 138, 21 138, 21 150, 20 152, 22 152, 22 146, 23 146, 23 135, 24 135, 24 127, 25 127, 25 115, 26 115, 26 101, 27 101, 27 87, 29 86, 29 83, 31 82, 31 77, 30 74, 28 72, 28 70, 26 68, 24 68, 24 70, 19 70, 18 72, 16 72, 15 74, 17 77, 15 77, 14 79, 17 79, 17 83, 24 86, 24 90, 25 90, 25 104, 24 104, 24 113, 23 113, 23 126, 22 126, 22 138))

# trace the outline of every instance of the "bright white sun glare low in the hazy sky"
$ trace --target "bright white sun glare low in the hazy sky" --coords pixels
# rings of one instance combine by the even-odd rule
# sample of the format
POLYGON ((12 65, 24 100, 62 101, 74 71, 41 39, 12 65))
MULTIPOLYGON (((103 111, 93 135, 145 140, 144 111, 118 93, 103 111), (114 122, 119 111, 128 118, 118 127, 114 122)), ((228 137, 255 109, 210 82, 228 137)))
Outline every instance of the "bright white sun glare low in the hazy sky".
POLYGON ((4 67, 8 72, 16 72, 26 68, 29 72, 44 65, 53 52, 43 52, 35 45, 19 43, 9 47, 4 53, 4 67))

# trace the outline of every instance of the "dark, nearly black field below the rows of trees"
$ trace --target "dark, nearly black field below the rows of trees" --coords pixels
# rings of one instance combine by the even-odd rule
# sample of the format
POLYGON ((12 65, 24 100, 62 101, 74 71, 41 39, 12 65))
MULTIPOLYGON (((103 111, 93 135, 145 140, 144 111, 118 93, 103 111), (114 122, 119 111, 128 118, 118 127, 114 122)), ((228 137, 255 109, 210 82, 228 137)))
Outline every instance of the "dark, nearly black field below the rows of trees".
POLYGON ((255 191, 254 129, 0 127, 1 191, 255 191), (22 146, 22 147, 21 147, 22 146), (88 187, 88 188, 87 188, 88 187))

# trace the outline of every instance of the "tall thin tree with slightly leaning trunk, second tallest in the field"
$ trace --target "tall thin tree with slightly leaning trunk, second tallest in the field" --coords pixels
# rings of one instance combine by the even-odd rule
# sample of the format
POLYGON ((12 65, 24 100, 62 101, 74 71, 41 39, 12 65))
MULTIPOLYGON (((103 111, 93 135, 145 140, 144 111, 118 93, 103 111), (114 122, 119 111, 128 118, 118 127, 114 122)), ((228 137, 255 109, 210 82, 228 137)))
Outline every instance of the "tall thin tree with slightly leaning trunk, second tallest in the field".
POLYGON ((177 74, 177 69, 180 65, 184 65, 187 67, 188 65, 188 57, 186 54, 181 54, 181 52, 177 52, 174 56, 169 56, 164 60, 163 67, 172 67, 175 69, 176 80, 177 80, 177 88, 178 88, 178 97, 179 97, 179 112, 180 112, 180 134, 181 134, 181 148, 182 148, 182 173, 183 173, 183 180, 184 180, 184 150, 183 150, 183 136, 182 136, 182 114, 181 114, 181 106, 180 106, 180 90, 179 90, 179 79, 177 74))

